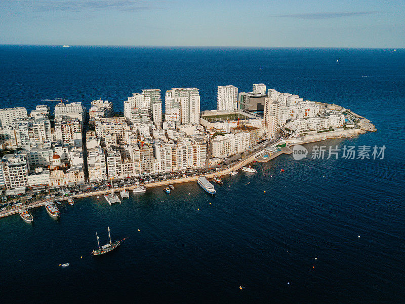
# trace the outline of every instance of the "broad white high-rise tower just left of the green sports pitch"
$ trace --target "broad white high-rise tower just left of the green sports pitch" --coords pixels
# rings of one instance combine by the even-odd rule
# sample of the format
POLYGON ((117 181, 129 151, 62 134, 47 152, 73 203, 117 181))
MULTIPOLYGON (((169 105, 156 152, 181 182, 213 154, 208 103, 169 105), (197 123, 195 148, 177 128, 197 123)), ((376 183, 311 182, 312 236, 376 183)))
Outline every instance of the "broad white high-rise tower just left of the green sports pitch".
POLYGON ((166 113, 171 115, 180 110, 181 124, 198 124, 200 96, 196 88, 174 88, 166 91, 166 113))

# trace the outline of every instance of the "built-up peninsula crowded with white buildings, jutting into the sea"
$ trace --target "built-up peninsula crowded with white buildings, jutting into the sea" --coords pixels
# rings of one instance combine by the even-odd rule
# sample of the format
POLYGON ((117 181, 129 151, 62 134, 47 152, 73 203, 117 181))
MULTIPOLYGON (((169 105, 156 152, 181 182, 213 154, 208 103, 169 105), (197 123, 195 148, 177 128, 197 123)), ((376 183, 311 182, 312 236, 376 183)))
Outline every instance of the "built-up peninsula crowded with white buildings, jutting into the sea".
POLYGON ((217 109, 200 112, 196 88, 142 90, 115 112, 107 100, 89 111, 62 98, 27 115, 0 109, 0 217, 21 209, 105 195, 140 186, 167 186, 228 174, 268 161, 290 146, 376 131, 339 105, 303 100, 254 84, 252 92, 219 86, 217 109), (264 158, 263 155, 266 157, 264 158))

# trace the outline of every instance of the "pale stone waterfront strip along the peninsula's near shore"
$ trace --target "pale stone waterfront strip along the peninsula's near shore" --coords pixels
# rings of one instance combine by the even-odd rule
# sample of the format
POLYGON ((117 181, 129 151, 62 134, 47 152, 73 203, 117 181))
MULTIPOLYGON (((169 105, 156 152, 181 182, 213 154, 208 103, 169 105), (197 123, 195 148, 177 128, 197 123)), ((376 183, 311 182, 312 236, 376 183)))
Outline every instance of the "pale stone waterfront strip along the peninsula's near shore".
MULTIPOLYGON (((334 139, 334 138, 351 138, 354 136, 358 136, 359 134, 363 134, 366 133, 366 130, 362 130, 362 129, 348 129, 348 130, 338 130, 338 131, 331 131, 331 132, 325 132, 325 133, 317 133, 317 134, 312 134, 312 135, 306 135, 304 136, 304 138, 301 139, 286 139, 286 140, 280 140, 276 143, 273 143, 273 145, 276 145, 279 142, 285 141, 287 146, 282 148, 280 151, 277 151, 276 153, 274 153, 273 155, 271 155, 268 159, 265 160, 265 162, 270 161, 276 157, 278 157, 281 154, 291 154, 292 150, 290 149, 290 146, 294 146, 295 144, 306 144, 306 143, 311 143, 311 142, 317 142, 317 141, 323 141, 325 139, 334 139)), ((229 172, 233 171, 233 170, 239 170, 240 168, 252 163, 253 161, 255 161, 258 156, 260 156, 263 151, 266 148, 261 148, 259 151, 256 151, 255 153, 253 153, 252 155, 246 157, 246 159, 240 161, 239 163, 235 163, 234 166, 231 166, 229 168, 226 168, 224 170, 220 170, 220 171, 216 171, 213 173, 209 173, 209 174, 199 174, 196 176, 190 176, 190 177, 183 177, 183 178, 179 178, 179 179, 170 179, 170 180, 165 180, 165 181, 157 181, 157 182, 152 182, 152 183, 147 183, 144 184, 145 188, 151 188, 151 187, 160 187, 160 186, 167 186, 169 184, 178 184, 178 183, 185 183, 185 182, 194 182, 197 180, 197 178, 199 176, 206 176, 207 178, 213 178, 215 175, 219 175, 219 176, 223 176, 228 174, 229 172)), ((128 186, 126 187, 127 190, 132 190, 136 187, 138 187, 139 185, 133 185, 133 186, 128 186)), ((120 192, 121 190, 123 190, 124 188, 116 188, 114 189, 114 192, 120 192)), ((75 199, 75 198, 85 198, 85 197, 92 197, 92 196, 100 196, 100 195, 105 195, 105 194, 109 194, 111 191, 110 189, 108 190, 103 190, 103 191, 97 191, 97 192, 91 192, 91 193, 82 193, 82 194, 76 194, 76 195, 72 195, 69 197, 64 197, 64 198, 58 198, 55 199, 54 202, 60 202, 60 201, 67 201, 69 198, 70 199, 75 199)), ((49 200, 45 200, 45 201, 36 201, 30 204, 25 205, 24 207, 28 210, 28 209, 32 209, 32 208, 36 208, 36 207, 41 207, 44 206, 45 203, 49 202, 49 200)), ((2 217, 6 217, 9 215, 13 215, 19 212, 19 208, 15 208, 15 209, 9 209, 9 210, 4 210, 0 212, 0 218, 2 217)))

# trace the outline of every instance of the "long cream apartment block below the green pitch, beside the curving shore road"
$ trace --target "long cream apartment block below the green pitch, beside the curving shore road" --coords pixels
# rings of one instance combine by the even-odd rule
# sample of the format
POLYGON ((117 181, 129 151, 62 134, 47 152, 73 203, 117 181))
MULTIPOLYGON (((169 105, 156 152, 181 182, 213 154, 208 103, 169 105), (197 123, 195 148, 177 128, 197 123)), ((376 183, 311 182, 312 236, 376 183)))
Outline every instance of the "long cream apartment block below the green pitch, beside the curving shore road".
POLYGON ((249 138, 250 134, 245 132, 217 135, 211 140, 212 157, 226 158, 245 152, 249 148, 249 138))

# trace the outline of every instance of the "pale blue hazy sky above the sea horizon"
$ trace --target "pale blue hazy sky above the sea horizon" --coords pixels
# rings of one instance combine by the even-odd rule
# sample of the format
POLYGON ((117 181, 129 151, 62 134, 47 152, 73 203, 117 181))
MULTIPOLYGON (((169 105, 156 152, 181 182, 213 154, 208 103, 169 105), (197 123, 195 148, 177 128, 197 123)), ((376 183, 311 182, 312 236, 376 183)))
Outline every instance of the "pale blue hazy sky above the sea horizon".
POLYGON ((405 48, 404 0, 0 0, 0 44, 405 48))

